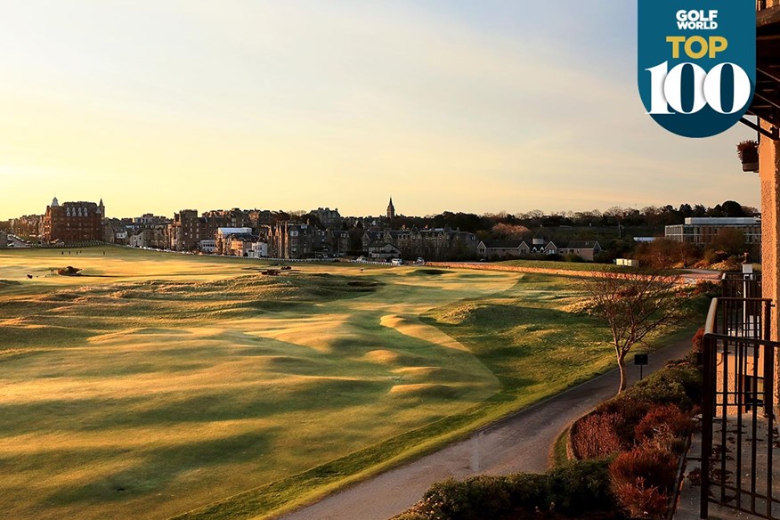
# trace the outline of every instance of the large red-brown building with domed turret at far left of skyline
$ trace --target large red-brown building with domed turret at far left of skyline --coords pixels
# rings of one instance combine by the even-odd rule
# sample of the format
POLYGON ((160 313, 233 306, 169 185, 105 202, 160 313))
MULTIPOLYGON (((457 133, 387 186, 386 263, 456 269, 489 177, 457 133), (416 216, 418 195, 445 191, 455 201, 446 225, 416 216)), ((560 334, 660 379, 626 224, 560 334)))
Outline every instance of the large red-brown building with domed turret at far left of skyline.
POLYGON ((55 197, 46 207, 41 241, 73 244, 102 240, 102 219, 105 215, 102 199, 100 204, 84 201, 60 204, 55 197))

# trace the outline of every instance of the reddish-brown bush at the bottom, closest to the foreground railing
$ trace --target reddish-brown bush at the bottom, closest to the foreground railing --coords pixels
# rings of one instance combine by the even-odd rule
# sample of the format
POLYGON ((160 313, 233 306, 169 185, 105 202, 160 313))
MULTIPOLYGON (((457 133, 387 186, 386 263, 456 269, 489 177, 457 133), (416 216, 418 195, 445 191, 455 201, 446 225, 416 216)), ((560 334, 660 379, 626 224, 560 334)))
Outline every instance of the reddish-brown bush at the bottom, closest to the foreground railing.
POLYGON ((633 518, 662 518, 677 476, 677 457, 656 445, 621 453, 609 467, 612 491, 633 518))

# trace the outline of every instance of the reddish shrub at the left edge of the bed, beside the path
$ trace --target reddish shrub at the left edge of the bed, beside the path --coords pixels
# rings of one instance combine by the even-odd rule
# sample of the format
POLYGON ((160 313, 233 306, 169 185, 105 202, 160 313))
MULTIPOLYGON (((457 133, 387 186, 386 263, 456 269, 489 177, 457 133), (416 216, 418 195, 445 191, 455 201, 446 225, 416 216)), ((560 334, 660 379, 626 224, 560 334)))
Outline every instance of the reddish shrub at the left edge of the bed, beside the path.
POLYGON ((571 441, 577 459, 597 459, 622 451, 624 444, 618 435, 625 418, 618 413, 591 413, 574 423, 571 441))

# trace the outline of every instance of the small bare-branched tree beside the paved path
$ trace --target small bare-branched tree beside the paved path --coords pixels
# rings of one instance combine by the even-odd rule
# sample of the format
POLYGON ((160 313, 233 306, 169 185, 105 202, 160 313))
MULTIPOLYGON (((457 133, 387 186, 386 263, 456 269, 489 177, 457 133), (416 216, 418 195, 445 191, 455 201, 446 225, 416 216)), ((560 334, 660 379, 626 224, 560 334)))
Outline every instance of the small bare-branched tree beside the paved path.
POLYGON ((676 276, 659 271, 600 272, 585 281, 591 311, 612 332, 621 384, 626 389, 625 358, 634 345, 668 331, 687 314, 676 276))

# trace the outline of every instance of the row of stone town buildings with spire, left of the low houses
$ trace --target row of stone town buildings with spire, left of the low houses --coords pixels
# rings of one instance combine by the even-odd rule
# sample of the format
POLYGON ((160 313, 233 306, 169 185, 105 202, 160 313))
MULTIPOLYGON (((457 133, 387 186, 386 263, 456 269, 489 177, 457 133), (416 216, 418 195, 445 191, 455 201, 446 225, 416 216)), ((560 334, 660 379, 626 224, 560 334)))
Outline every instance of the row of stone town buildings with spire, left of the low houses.
MULTIPOLYGON (((393 200, 386 211, 395 216, 393 200)), ((26 217, 29 225, 32 217, 26 217)), ((14 223, 12 223, 13 225, 14 223)), ((21 223, 20 223, 21 224, 21 223)), ((297 259, 343 256, 362 248, 371 258, 423 256, 430 259, 466 259, 476 255, 474 233, 450 229, 402 229, 351 232, 344 229, 338 209, 318 207, 306 222, 267 210, 207 211, 183 209, 173 219, 142 215, 133 219, 106 216, 102 202, 65 202, 56 198, 38 223, 41 242, 64 245, 104 241, 135 248, 199 251, 207 254, 297 259), (359 233, 359 234, 355 234, 359 233)), ((38 234, 25 230, 27 234, 38 234)))

